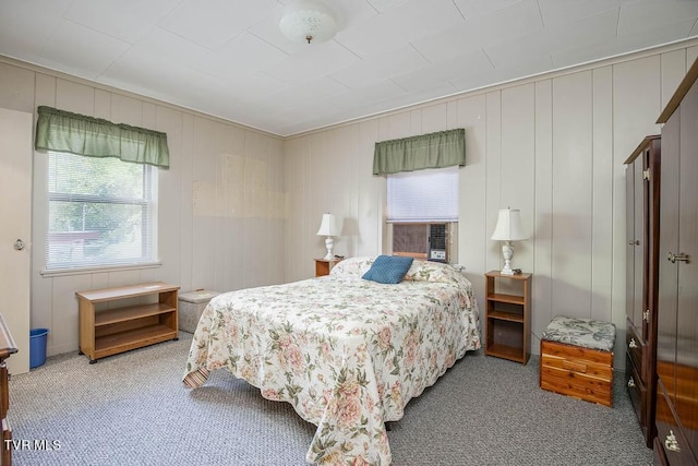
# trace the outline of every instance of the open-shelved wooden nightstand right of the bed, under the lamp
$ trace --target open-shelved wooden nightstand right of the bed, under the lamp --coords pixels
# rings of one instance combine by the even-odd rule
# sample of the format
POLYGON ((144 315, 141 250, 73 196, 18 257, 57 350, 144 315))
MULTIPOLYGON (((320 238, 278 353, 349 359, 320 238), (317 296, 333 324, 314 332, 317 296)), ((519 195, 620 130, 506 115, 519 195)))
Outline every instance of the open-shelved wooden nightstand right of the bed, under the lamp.
POLYGON ((488 356, 526 365, 531 356, 531 277, 532 274, 502 275, 498 271, 484 274, 486 279, 488 356), (521 294, 495 290, 496 280, 520 284, 521 294))

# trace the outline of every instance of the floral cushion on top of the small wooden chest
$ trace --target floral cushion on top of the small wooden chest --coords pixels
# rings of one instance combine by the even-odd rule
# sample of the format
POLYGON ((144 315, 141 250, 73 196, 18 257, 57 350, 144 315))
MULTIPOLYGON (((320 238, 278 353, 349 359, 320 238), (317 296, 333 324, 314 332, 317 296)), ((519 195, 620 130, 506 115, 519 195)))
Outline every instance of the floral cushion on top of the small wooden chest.
POLYGON ((543 331, 542 339, 612 351, 615 343, 615 325, 593 319, 557 315, 543 331))

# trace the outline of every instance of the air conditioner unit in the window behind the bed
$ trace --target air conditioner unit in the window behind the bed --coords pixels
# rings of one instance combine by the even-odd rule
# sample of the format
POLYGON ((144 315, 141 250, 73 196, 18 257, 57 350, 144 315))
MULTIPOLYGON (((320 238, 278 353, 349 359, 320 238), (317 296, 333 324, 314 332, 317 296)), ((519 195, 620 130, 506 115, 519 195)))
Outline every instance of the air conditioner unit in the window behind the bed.
POLYGON ((393 254, 448 262, 448 224, 393 224, 393 254))

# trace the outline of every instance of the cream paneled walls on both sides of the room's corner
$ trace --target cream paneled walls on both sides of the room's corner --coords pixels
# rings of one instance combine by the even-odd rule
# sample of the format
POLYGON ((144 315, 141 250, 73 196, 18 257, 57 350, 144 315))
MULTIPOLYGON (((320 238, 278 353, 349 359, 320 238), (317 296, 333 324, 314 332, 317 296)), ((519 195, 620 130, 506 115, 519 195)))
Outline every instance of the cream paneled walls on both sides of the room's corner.
POLYGON ((659 133, 654 121, 697 56, 698 41, 687 41, 286 140, 0 58, 0 107, 49 105, 152 128, 167 132, 171 153, 158 177, 161 264, 75 275, 43 273, 46 160, 34 155, 32 326, 50 328, 48 354, 59 354, 77 348, 80 289, 166 280, 183 291, 231 290, 308 278, 324 255, 324 212, 342 223, 336 253, 387 251, 375 142, 466 128, 457 262, 479 301, 483 273, 502 266, 490 240, 497 211, 520 208, 530 239, 515 243, 514 264, 534 274, 533 351, 557 313, 603 319, 618 327, 623 367, 623 162, 659 133))

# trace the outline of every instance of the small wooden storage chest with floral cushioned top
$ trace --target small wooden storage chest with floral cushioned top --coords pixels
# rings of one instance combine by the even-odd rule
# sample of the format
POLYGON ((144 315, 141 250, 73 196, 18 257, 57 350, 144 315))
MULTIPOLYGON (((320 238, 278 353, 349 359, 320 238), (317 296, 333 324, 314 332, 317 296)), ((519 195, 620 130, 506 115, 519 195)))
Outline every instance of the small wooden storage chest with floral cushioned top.
POLYGON ((613 406, 615 325, 556 316, 541 338, 541 389, 613 406))

